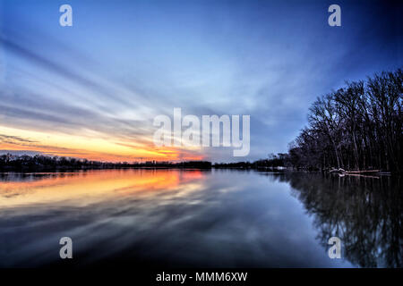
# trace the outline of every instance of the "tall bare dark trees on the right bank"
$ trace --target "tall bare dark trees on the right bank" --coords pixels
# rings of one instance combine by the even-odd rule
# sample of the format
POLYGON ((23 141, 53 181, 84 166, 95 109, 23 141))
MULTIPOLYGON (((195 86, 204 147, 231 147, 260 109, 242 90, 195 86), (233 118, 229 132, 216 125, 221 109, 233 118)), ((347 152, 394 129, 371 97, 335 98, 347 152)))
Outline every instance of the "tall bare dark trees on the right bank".
POLYGON ((403 71, 382 72, 318 97, 290 143, 296 168, 401 172, 403 71))

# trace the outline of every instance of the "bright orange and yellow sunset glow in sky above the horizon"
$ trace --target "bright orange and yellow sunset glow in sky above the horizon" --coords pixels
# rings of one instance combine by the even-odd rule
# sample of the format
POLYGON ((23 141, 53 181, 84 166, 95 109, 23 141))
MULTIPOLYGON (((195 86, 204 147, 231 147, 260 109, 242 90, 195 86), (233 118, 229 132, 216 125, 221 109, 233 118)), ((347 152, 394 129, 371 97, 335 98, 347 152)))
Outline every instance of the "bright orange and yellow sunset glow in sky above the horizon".
POLYGON ((0 150, 38 152, 47 156, 66 156, 103 162, 200 161, 204 156, 179 147, 156 147, 152 142, 124 143, 117 139, 85 135, 47 134, 0 126, 0 150))

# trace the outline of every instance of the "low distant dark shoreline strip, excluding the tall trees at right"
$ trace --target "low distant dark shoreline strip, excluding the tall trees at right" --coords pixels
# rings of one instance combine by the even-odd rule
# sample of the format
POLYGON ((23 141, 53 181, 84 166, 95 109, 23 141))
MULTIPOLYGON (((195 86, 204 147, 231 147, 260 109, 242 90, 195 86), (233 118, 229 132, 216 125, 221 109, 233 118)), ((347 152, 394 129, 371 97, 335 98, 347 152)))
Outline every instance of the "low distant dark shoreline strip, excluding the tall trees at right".
POLYGON ((344 175, 388 175, 390 172, 381 170, 346 171, 344 169, 314 170, 296 168, 290 165, 287 153, 270 155, 268 159, 261 159, 254 162, 236 163, 211 163, 209 161, 186 161, 186 162, 100 162, 87 159, 60 156, 14 156, 6 154, 0 156, 0 173, 4 172, 77 172, 90 170, 113 170, 113 169, 236 169, 255 171, 322 171, 344 175))

